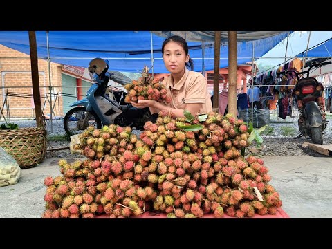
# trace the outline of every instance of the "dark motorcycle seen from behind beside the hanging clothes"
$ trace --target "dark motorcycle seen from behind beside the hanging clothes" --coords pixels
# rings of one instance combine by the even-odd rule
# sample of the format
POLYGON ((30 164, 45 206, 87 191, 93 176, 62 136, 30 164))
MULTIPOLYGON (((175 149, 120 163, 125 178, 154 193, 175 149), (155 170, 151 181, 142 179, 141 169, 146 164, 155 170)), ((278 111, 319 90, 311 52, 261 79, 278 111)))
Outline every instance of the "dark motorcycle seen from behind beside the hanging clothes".
POLYGON ((292 96, 297 102, 299 109, 299 135, 295 138, 302 136, 311 138, 313 143, 323 144, 323 131, 326 128, 327 122, 324 109, 323 91, 324 86, 322 83, 317 82, 314 77, 309 77, 311 68, 320 68, 321 66, 331 64, 331 62, 312 62, 307 71, 297 72, 288 70, 277 73, 277 75, 293 75, 297 77, 297 84, 295 85, 292 96), (299 79, 299 75, 306 77, 299 79))

